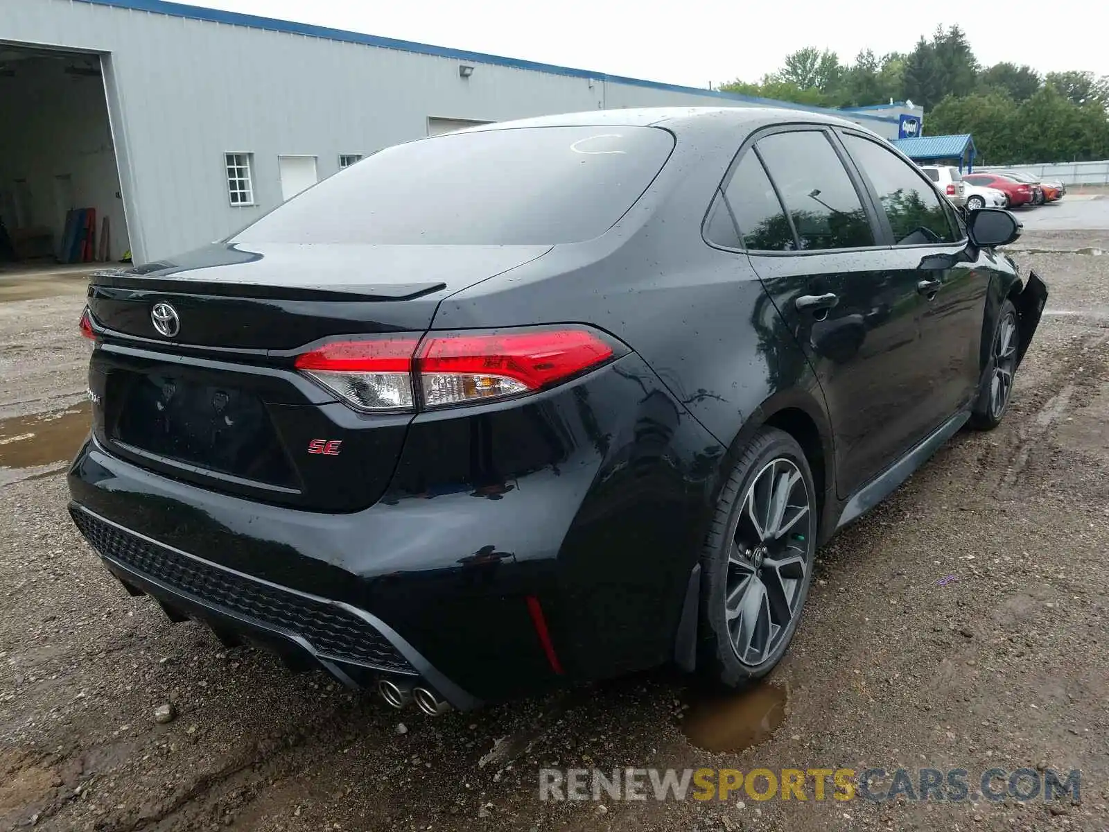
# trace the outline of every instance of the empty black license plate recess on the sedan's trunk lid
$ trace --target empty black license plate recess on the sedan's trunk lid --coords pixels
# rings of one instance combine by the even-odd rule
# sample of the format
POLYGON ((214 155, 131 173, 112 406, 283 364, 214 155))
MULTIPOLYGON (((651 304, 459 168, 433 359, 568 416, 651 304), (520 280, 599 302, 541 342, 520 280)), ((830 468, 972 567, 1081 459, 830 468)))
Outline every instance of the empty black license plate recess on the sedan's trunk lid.
POLYGON ((121 403, 111 440, 244 480, 298 487, 266 406, 255 394, 172 372, 115 371, 108 381, 110 400, 121 403))

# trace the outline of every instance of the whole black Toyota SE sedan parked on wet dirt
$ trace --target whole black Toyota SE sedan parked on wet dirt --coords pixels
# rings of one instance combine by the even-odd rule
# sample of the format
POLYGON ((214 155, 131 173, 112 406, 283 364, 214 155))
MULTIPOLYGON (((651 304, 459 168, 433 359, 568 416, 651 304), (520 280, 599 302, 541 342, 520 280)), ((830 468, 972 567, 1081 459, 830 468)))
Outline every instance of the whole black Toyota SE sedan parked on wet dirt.
POLYGON ((814 552, 995 427, 1047 290, 854 123, 389 148, 93 277, 73 520, 170 618, 425 712, 782 658, 814 552))

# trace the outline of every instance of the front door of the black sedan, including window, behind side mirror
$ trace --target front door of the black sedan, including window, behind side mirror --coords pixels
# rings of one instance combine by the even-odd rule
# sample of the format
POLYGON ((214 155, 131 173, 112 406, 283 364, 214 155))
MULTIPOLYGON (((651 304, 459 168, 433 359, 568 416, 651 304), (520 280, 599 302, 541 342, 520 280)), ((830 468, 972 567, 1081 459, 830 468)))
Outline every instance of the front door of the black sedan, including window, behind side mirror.
POLYGON ((922 383, 914 438, 965 407, 978 385, 989 271, 965 256, 965 229, 947 200, 910 163, 873 138, 842 131, 844 146, 879 205, 896 280, 923 298, 916 355, 922 383))

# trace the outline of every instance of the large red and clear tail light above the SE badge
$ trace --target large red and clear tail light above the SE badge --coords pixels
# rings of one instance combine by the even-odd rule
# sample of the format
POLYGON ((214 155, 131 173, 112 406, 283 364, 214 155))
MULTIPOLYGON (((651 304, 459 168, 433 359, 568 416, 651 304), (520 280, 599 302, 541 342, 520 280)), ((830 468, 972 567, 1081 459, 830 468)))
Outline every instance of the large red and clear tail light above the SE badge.
POLYGON ((535 393, 613 355, 597 333, 559 327, 336 342, 298 356, 296 368, 356 409, 411 410, 535 393))

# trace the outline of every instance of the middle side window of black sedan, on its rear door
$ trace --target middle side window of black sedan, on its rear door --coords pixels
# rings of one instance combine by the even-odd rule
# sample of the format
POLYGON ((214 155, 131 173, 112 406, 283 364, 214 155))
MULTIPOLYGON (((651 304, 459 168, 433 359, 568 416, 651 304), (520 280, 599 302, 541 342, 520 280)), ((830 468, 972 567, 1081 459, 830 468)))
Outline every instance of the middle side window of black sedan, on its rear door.
POLYGON ((773 133, 755 145, 806 251, 874 245, 847 171, 822 131, 773 133))

